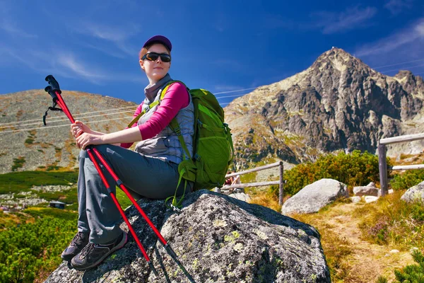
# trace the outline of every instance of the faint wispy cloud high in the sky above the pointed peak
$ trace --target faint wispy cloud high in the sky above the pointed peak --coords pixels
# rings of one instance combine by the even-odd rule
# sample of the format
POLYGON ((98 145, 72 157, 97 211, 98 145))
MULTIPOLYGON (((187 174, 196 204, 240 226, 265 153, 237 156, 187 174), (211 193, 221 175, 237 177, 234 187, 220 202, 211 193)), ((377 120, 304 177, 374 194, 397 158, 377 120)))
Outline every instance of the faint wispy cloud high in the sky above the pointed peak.
POLYGON ((347 30, 364 28, 370 25, 368 20, 376 13, 377 8, 375 7, 359 8, 358 6, 347 8, 346 11, 338 13, 318 11, 311 14, 312 18, 317 18, 316 21, 312 21, 312 26, 322 29, 324 34, 343 33, 347 30))

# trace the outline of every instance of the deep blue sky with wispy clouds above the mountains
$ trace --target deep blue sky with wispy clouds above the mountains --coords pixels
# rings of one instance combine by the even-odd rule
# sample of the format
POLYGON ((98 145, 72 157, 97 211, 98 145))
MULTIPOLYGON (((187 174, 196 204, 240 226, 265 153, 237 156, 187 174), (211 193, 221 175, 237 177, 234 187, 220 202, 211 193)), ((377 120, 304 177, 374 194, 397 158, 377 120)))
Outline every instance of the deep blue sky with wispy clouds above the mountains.
POLYGON ((156 34, 172 41, 172 78, 223 106, 332 46, 383 74, 424 75, 422 0, 0 0, 0 93, 45 88, 53 74, 62 89, 140 103, 138 52, 156 34))

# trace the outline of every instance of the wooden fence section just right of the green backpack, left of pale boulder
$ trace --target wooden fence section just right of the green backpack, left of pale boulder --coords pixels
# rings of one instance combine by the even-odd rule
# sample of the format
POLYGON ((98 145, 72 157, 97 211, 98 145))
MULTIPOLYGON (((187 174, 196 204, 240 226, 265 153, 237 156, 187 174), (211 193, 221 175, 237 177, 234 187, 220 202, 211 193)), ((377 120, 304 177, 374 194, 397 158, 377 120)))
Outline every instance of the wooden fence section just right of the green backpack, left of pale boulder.
MULTIPOLYGON (((249 169, 246 171, 240 171, 240 172, 236 172, 236 173, 231 173, 231 174, 227 174, 225 175, 225 178, 230 178, 233 176, 237 176, 237 175, 243 175, 243 174, 247 174, 247 173, 252 173, 252 172, 256 172, 256 171, 261 171, 261 170, 266 170, 269 168, 273 168, 273 167, 280 167, 280 180, 278 181, 268 181, 268 182, 257 182, 257 183, 242 183, 242 184, 234 184, 234 185, 225 185, 222 187, 222 189, 232 189, 232 188, 240 188, 240 187, 260 187, 260 186, 265 186, 265 185, 279 185, 280 187, 280 191, 278 194, 278 203, 280 205, 283 204, 283 193, 284 193, 284 180, 283 180, 283 161, 278 161, 276 163, 271 163, 268 165, 264 165, 264 166, 259 166, 257 168, 253 168, 253 169, 249 169)), ((220 188, 218 188, 218 192, 220 192, 220 188)))

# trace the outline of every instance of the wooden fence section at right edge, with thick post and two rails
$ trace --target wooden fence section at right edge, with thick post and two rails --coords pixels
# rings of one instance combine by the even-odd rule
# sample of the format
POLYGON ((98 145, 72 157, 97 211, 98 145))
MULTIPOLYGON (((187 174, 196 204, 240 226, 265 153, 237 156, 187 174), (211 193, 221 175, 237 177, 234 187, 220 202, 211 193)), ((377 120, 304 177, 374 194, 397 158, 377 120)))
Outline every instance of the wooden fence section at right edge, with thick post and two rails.
POLYGON ((387 180, 387 170, 411 170, 411 169, 423 169, 424 164, 417 165, 402 165, 402 166, 391 166, 387 168, 386 160, 386 144, 396 144, 398 142, 406 141, 416 141, 419 139, 424 139, 423 134, 406 134, 399 137, 388 137, 386 139, 380 139, 378 144, 378 168, 379 168, 379 177, 380 177, 380 189, 382 195, 387 195, 387 187, 389 182, 387 180))

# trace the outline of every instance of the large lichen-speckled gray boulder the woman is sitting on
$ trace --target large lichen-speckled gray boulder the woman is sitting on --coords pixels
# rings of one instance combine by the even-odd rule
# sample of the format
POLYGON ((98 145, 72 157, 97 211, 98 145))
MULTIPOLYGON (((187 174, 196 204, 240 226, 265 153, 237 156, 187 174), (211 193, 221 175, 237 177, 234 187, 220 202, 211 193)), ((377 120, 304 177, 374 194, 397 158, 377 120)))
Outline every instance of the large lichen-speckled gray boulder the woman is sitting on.
POLYGON ((208 190, 188 195, 182 212, 166 209, 160 200, 139 204, 187 272, 132 206, 126 216, 158 277, 130 237, 98 267, 79 272, 63 262, 46 282, 331 282, 318 231, 272 209, 208 190))

